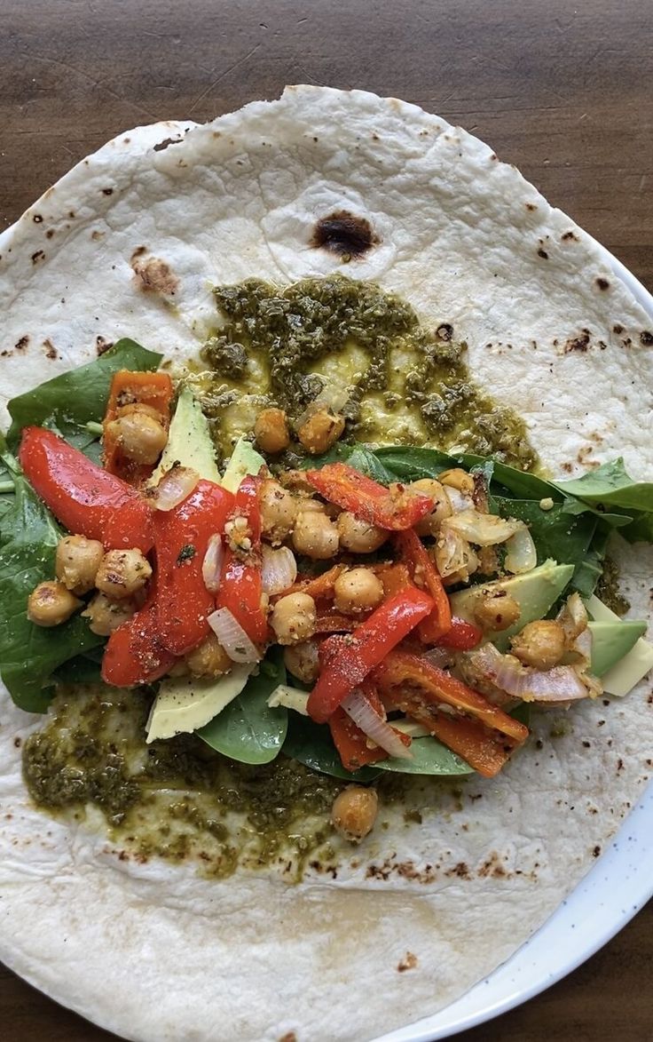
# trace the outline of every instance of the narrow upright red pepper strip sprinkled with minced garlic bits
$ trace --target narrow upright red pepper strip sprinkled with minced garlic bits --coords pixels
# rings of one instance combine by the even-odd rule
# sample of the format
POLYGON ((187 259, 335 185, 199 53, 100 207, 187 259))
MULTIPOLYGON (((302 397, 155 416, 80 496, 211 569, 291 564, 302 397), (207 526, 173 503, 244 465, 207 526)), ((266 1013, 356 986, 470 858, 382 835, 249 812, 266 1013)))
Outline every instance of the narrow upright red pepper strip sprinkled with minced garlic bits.
MULTIPOLYGON (((263 588, 260 571, 258 503, 261 480, 260 477, 248 475, 238 486, 230 520, 245 518, 247 525, 243 532, 249 538, 250 545, 247 549, 237 551, 227 547, 220 589, 216 597, 216 607, 228 607, 254 644, 261 644, 270 638, 268 620, 261 606, 263 588)), ((237 542, 238 537, 234 530, 228 538, 237 542)))

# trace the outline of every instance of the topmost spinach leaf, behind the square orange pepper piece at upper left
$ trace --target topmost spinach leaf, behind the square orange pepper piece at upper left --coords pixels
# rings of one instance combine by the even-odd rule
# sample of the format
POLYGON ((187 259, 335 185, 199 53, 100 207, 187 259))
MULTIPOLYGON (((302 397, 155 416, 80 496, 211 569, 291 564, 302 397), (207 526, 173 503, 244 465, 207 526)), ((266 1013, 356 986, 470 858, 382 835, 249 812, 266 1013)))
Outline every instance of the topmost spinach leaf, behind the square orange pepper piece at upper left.
POLYGON ((7 432, 9 448, 16 451, 23 427, 34 424, 56 430, 71 445, 93 454, 91 447, 97 445, 98 436, 86 424, 101 422, 114 373, 120 369, 154 370, 161 357, 133 340, 119 340, 95 362, 54 376, 12 398, 7 405, 11 417, 7 432))

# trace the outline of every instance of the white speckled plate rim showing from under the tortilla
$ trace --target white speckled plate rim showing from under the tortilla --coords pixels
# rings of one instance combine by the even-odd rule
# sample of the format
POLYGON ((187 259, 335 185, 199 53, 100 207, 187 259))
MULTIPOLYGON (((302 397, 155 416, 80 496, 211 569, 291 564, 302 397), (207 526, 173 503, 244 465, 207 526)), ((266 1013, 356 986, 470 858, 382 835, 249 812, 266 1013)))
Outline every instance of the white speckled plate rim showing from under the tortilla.
MULTIPOLYGON (((599 243, 606 263, 653 318, 653 296, 599 243)), ((539 994, 598 951, 653 896, 653 783, 609 849, 511 959, 432 1017, 377 1042, 435 1042, 539 994)))

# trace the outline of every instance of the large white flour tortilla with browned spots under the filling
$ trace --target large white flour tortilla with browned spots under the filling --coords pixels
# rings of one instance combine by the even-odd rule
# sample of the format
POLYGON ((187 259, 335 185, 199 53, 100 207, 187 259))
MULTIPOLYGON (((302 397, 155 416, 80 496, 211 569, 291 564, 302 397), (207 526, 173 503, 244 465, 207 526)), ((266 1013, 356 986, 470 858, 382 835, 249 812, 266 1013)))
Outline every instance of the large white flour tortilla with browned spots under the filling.
MULTIPOLYGON (((449 322, 552 473, 619 454, 653 472, 651 319, 513 167, 401 101, 296 86, 207 126, 140 127, 50 189, 0 254, 2 425, 8 398, 104 342, 196 353, 211 283, 343 271, 449 322), (310 245, 343 209, 380 240, 346 265, 310 245)), ((651 555, 618 552, 645 616, 651 555)), ((336 879, 309 869, 295 887, 121 861, 100 828, 40 814, 17 748, 40 721, 5 693, 0 958, 128 1039, 362 1042, 411 1022, 510 956, 595 863, 647 780, 648 690, 574 709, 555 741, 544 714, 500 777, 433 783, 422 825, 384 812, 336 879)))

